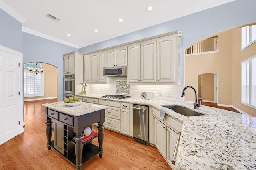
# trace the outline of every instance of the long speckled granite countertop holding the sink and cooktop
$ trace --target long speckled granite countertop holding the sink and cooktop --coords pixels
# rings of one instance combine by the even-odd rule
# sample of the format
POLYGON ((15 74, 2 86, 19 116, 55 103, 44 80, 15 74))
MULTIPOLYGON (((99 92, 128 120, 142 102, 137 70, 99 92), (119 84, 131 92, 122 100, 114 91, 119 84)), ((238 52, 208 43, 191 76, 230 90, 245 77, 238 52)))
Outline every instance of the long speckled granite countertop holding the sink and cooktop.
MULTIPOLYGON (((101 95, 77 95, 94 97, 101 95)), ((161 105, 180 105, 194 110, 194 103, 126 98, 107 99, 161 109, 161 105)), ((177 170, 256 169, 256 117, 202 106, 206 116, 186 117, 174 111, 166 114, 183 123, 175 167, 177 170)))

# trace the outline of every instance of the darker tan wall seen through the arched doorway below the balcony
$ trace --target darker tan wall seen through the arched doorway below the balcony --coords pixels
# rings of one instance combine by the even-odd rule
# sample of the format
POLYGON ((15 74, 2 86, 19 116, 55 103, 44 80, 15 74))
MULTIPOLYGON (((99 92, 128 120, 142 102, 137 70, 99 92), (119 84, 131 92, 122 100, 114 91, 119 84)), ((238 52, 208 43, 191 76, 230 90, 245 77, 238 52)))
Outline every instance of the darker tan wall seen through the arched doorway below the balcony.
POLYGON ((214 101, 214 74, 203 74, 202 79, 202 100, 214 101))

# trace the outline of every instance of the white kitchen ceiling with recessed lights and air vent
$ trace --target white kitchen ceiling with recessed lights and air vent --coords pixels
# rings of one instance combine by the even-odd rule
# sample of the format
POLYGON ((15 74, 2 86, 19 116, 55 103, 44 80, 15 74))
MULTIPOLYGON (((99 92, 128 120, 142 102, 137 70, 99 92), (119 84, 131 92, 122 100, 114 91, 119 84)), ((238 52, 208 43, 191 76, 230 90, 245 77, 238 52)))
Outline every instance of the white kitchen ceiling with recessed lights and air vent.
POLYGON ((231 1, 0 0, 0 5, 23 23, 23 31, 81 48, 231 1), (147 12, 147 6, 154 10, 147 12), (47 18, 47 13, 60 21, 47 18))

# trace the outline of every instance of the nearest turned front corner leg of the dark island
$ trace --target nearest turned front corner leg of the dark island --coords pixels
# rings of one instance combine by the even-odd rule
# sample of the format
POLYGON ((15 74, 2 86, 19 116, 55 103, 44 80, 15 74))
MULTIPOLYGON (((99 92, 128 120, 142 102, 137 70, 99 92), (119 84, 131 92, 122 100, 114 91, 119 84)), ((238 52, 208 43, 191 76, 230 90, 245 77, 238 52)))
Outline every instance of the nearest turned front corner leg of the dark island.
POLYGON ((74 136, 73 138, 76 141, 76 146, 75 146, 76 170, 82 169, 83 138, 84 138, 84 135, 82 133, 76 133, 76 136, 74 136))

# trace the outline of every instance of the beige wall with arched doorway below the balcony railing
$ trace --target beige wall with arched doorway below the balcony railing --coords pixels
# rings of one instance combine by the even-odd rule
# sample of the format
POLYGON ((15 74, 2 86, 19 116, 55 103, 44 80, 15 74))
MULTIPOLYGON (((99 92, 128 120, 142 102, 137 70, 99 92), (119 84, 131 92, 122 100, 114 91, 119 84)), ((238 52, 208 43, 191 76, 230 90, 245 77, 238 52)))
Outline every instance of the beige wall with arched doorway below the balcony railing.
MULTIPOLYGON (((230 31, 218 34, 218 53, 185 56, 185 85, 198 87, 198 75, 218 75, 218 103, 232 104, 231 80, 231 36, 230 31), (223 85, 221 85, 223 83, 223 85)), ((198 89, 197 89, 198 91, 198 89)), ((194 92, 186 92, 186 101, 194 101, 194 92)), ((204 95, 204 94, 203 94, 204 95)))

